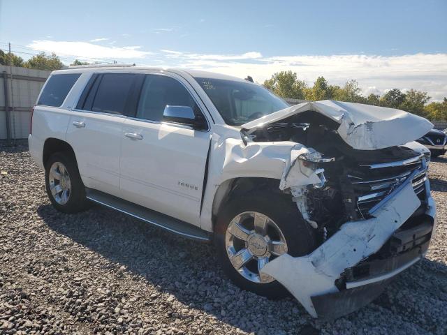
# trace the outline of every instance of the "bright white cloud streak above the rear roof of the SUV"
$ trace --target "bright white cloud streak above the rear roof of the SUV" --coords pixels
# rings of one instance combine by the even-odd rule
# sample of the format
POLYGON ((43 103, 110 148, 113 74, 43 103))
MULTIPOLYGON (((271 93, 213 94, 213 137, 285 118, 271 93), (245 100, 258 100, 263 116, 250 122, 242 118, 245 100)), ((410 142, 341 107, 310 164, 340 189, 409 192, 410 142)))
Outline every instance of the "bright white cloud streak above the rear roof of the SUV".
POLYGON ((105 47, 87 42, 69 42, 54 40, 33 40, 28 47, 34 50, 54 52, 59 56, 78 57, 80 59, 142 59, 152 52, 140 51, 139 46, 105 47))

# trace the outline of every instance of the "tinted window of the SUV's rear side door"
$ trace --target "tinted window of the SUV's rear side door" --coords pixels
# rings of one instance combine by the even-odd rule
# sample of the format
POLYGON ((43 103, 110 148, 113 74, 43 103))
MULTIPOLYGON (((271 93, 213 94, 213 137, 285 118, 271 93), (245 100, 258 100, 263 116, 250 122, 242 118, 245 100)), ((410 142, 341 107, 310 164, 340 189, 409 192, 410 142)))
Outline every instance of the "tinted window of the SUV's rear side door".
MULTIPOLYGON (((78 103, 78 108, 110 114, 129 114, 129 105, 133 105, 135 79, 131 73, 105 73, 95 75, 87 84, 88 94, 82 94, 85 100, 78 103)), ((136 100, 136 99, 135 99, 136 100)), ((131 108, 134 109, 134 108, 131 108)), ((130 112, 131 113, 131 112, 130 112)))

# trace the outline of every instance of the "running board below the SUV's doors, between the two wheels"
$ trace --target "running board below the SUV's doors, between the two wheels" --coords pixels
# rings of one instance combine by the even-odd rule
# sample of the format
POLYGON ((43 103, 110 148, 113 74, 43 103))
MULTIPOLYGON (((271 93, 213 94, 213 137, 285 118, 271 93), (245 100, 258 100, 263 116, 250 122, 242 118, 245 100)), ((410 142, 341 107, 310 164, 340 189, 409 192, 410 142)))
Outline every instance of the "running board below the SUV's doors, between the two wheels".
POLYGON ((121 211, 122 213, 132 216, 133 218, 138 218, 142 221, 156 225, 157 227, 166 229, 170 232, 175 232, 175 234, 182 235, 183 237, 189 239, 211 241, 210 234, 208 232, 201 230, 190 223, 161 214, 158 211, 152 211, 152 209, 147 209, 146 207, 134 204, 133 202, 122 200, 113 195, 91 188, 85 188, 85 192, 87 193, 87 199, 105 207, 121 211))

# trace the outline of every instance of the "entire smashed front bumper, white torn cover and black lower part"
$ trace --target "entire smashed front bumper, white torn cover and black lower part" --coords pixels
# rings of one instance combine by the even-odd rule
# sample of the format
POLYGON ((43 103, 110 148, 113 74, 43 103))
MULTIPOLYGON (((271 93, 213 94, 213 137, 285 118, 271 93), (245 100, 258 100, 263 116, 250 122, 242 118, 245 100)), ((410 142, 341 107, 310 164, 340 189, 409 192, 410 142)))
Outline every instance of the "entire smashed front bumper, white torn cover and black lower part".
POLYGON ((284 254, 261 271, 284 285, 314 318, 328 320, 356 311, 380 295, 390 278, 423 258, 430 244, 436 206, 428 180, 425 213, 417 216, 423 221, 414 225, 414 234, 404 229, 421 207, 410 181, 388 195, 373 218, 345 223, 309 255, 293 258, 284 254), (405 250, 376 259, 399 237, 405 250))

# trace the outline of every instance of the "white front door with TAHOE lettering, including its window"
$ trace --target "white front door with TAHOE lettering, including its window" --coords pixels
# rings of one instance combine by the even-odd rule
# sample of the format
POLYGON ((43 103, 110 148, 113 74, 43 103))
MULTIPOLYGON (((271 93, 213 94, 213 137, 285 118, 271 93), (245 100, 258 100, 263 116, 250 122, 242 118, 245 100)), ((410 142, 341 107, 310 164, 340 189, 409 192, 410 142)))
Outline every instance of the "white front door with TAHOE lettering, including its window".
POLYGON ((145 75, 135 117, 124 123, 121 191, 126 200, 199 225, 210 127, 163 119, 166 105, 189 106, 205 118, 196 93, 181 80, 145 75))

